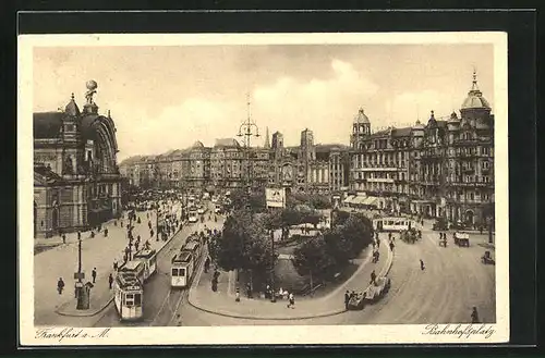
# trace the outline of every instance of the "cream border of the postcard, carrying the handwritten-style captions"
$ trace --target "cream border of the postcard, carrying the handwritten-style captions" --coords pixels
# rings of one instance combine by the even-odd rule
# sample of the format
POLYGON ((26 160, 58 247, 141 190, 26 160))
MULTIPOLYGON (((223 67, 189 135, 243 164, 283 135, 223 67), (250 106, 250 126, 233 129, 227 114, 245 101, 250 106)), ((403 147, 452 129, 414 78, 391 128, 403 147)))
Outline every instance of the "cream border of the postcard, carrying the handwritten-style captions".
MULTIPOLYGON (((504 343, 509 340, 509 186, 508 186, 508 96, 506 33, 388 33, 388 34, 99 34, 22 35, 19 37, 17 86, 17 218, 19 218, 19 314, 20 343, 27 345, 214 345, 214 344, 392 344, 392 343, 504 343), (135 45, 137 44, 137 45, 135 45), (34 243, 32 231, 33 189, 33 48, 63 46, 201 46, 288 44, 493 44, 495 113, 495 202, 496 202, 496 324, 494 333, 460 337, 425 334, 426 325, 283 325, 211 328, 116 328, 104 337, 92 338, 104 329, 73 329, 78 337, 39 338, 34 326, 34 243), (83 335, 87 334, 86 337, 83 335)), ((281 325, 281 321, 278 321, 281 325)), ((480 325, 474 325, 477 329, 480 325)), ((438 326, 445 329, 445 324, 438 326)), ((459 330, 467 329, 462 324, 459 330)), ((66 332, 66 329, 64 332, 66 332)), ((448 331, 446 330, 446 331, 448 331)), ((57 333, 61 332, 56 328, 57 333)), ((445 331, 445 332, 446 332, 445 331)))

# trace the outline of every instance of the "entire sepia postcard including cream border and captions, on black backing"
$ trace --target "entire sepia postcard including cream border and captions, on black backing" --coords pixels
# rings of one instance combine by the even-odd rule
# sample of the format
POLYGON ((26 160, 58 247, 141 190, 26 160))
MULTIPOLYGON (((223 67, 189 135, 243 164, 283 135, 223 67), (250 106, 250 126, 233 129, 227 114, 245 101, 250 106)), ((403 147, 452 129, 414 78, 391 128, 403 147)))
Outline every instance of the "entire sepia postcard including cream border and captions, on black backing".
POLYGON ((19 45, 23 345, 508 341, 505 34, 19 45))

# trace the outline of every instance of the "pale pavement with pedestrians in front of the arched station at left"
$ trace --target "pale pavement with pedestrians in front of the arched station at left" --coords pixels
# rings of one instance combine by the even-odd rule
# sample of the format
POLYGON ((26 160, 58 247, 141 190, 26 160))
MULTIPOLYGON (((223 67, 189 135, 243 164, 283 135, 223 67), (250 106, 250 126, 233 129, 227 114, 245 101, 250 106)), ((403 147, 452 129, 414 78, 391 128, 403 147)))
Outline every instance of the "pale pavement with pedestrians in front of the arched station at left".
MULTIPOLYGON (((138 212, 141 224, 133 223, 133 235, 141 235, 141 246, 149 239, 150 247, 159 250, 166 242, 149 237, 148 220, 155 227, 155 211, 138 212), (146 218, 149 213, 149 219, 146 218)), ((126 218, 126 214, 124 215, 126 218)), ((123 250, 128 245, 126 223, 123 220, 123 227, 120 222, 113 225, 113 221, 102 224, 102 232, 96 233, 94 238, 82 234, 82 271, 85 273, 86 282, 92 282, 92 270, 97 269, 97 280, 90 291, 90 308, 88 310, 76 310, 76 299, 74 297, 74 272, 77 271, 77 236, 74 235, 66 244, 61 244, 50 250, 34 256, 34 301, 35 321, 45 323, 55 321, 56 314, 61 316, 94 316, 109 305, 112 292, 109 289, 108 276, 113 272, 113 259, 121 264, 123 250), (104 229, 108 227, 108 237, 104 237, 104 229), (57 281, 62 277, 64 281, 64 292, 59 295, 57 292, 57 281)), ((88 234, 88 233, 87 233, 88 234)), ((134 252, 134 251, 133 251, 134 252)))

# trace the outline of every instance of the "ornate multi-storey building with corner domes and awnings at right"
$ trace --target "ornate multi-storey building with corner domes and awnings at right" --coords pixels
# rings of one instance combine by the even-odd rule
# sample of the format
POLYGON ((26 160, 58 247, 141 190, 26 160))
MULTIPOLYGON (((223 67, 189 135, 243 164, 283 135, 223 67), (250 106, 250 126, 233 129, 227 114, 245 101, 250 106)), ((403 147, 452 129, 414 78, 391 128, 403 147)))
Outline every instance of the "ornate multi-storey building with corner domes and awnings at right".
POLYGON ((426 125, 372 132, 360 110, 350 137, 352 194, 378 209, 486 225, 494 206, 494 115, 473 76, 460 116, 437 120, 432 111, 426 125))

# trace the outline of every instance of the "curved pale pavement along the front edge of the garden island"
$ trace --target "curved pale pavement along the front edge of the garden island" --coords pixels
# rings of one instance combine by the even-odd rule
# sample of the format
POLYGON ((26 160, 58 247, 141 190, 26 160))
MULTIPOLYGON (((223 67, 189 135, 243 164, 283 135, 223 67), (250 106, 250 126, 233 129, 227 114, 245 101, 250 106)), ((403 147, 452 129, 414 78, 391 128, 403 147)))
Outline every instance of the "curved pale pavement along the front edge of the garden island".
POLYGON ((213 270, 204 273, 201 269, 189 295, 189 303, 193 307, 215 314, 253 319, 253 320, 295 320, 328 317, 346 311, 344 292, 355 289, 363 292, 368 287, 371 272, 375 270, 377 276, 386 275, 391 268, 393 254, 390 252, 386 236, 382 236, 380 257, 378 263, 371 262, 371 250, 361 259, 360 268, 354 274, 322 298, 295 297, 295 308, 288 309, 288 301, 278 299, 270 303, 268 299, 249 299, 241 295, 240 303, 234 300, 234 274, 221 272, 218 280, 218 291, 211 291, 213 270))

